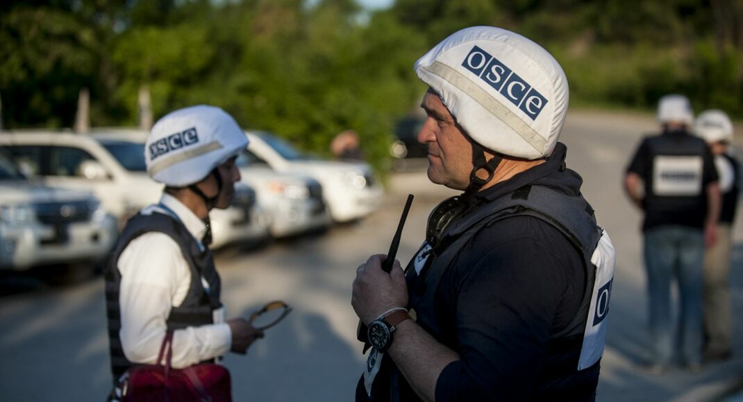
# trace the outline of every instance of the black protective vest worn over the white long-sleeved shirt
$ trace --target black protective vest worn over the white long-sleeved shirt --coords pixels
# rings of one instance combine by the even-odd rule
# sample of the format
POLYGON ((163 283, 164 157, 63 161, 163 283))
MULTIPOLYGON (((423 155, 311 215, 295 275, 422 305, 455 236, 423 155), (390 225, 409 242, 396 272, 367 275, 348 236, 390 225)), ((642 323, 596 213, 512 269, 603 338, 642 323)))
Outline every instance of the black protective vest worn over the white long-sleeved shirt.
MULTIPOLYGON (((202 326, 213 323, 213 311, 221 308, 219 294, 221 282, 214 266, 214 258, 208 248, 202 251, 199 244, 180 220, 167 214, 153 212, 149 215, 137 214, 127 223, 121 237, 111 254, 106 266, 106 316, 108 317, 108 347, 111 354, 111 372, 114 383, 134 366, 124 355, 121 345, 121 309, 119 291, 121 274, 117 267, 119 257, 132 240, 149 232, 160 232, 168 235, 181 247, 184 260, 191 272, 191 284, 181 306, 170 309, 166 320, 168 331, 184 329, 189 326, 202 326), (209 291, 204 289, 202 278, 209 284, 209 291)), ((146 263, 142 261, 141 263, 146 263)), ((150 267, 158 269, 157 266, 150 267)))

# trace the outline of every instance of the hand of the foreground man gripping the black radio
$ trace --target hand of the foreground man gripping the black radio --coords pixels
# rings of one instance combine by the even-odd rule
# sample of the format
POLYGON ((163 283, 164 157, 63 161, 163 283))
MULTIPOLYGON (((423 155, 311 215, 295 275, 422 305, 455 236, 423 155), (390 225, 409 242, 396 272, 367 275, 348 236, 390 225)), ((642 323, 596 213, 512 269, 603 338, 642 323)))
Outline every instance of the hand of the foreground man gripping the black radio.
POLYGON ((360 320, 369 324, 389 309, 405 307, 408 288, 400 261, 395 260, 392 271, 382 271, 382 261, 387 256, 376 254, 357 268, 351 305, 360 320))

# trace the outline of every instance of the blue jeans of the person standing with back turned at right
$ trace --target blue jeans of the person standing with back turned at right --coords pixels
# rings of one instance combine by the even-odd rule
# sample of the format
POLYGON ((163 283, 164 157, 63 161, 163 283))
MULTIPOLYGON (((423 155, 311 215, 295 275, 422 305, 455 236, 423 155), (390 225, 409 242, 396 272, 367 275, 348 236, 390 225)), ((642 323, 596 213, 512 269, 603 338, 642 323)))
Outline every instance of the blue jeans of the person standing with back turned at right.
POLYGON ((704 231, 680 225, 648 229, 645 266, 653 363, 665 366, 673 358, 671 285, 674 278, 678 280, 681 296, 678 314, 681 359, 687 364, 701 363, 704 231))

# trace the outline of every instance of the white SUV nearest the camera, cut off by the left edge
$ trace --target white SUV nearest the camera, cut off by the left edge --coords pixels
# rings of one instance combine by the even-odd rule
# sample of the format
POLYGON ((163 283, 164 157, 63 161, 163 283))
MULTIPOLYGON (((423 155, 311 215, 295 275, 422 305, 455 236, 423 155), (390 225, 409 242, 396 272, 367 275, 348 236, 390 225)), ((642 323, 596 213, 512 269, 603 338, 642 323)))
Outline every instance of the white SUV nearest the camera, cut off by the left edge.
POLYGON ((0 150, 0 269, 94 268, 113 247, 117 229, 92 194, 29 182, 0 150))

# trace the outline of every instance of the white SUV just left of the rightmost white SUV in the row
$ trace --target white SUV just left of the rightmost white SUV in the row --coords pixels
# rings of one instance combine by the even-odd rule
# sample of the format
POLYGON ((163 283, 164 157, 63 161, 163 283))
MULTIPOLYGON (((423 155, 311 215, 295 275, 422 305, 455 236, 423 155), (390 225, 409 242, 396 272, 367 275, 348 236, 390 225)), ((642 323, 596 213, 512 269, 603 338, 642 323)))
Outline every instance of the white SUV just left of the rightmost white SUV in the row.
POLYGON ((327 228, 332 220, 322 185, 311 177, 274 171, 252 151, 238 156, 242 181, 256 189, 259 205, 270 214, 273 237, 287 237, 327 228))

